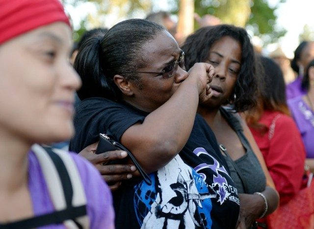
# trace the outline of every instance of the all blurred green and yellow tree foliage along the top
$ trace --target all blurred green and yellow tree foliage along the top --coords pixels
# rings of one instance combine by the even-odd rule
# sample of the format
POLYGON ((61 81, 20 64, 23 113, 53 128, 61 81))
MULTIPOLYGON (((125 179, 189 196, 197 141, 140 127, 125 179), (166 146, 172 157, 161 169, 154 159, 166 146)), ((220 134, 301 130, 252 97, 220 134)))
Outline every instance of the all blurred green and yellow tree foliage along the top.
MULTIPOLYGON (((150 12, 153 0, 63 0, 66 4, 77 5, 82 2, 94 2, 97 6, 97 15, 88 15, 81 23, 80 35, 87 23, 100 26, 102 18, 107 14, 115 14, 121 18, 132 18, 134 13, 150 12)), ((180 0, 168 0, 173 6, 172 13, 178 13, 180 0)), ((286 0, 279 0, 279 3, 286 0)), ((286 30, 276 26, 275 10, 277 6, 270 7, 266 0, 195 0, 195 12, 201 17, 206 14, 214 15, 223 23, 246 27, 254 35, 262 38, 265 44, 276 42, 284 36, 286 30)), ((195 28, 197 28, 195 24, 195 28)))

